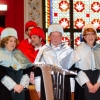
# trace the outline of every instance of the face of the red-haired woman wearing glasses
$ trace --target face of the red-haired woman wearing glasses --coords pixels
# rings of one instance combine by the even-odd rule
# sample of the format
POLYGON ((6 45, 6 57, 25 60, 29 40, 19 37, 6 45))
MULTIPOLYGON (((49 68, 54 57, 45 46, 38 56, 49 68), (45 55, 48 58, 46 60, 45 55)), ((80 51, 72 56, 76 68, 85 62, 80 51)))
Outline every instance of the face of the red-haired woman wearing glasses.
POLYGON ((86 32, 84 39, 88 45, 93 46, 96 39, 96 34, 94 32, 86 32))

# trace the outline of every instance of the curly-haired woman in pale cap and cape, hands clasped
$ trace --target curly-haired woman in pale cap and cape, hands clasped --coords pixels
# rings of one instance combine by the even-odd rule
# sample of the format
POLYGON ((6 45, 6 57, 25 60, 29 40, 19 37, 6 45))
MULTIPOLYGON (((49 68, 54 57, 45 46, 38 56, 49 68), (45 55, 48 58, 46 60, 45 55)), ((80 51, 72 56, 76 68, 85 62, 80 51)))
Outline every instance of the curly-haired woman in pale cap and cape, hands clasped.
MULTIPOLYGON (((27 91, 33 64, 16 49, 17 31, 5 28, 0 42, 0 100, 29 100, 27 91)), ((41 76, 39 69, 35 76, 41 76), (38 73, 39 72, 39 73, 38 73)))

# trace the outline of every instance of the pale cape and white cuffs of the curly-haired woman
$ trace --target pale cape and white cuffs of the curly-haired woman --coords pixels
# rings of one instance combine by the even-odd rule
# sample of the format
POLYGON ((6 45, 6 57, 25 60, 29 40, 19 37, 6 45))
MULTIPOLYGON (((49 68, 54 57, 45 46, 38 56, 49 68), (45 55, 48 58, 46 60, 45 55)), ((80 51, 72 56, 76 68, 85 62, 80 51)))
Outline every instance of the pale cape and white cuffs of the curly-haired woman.
MULTIPOLYGON (((0 65, 5 68, 12 67, 14 70, 18 71, 20 69, 32 67, 32 63, 30 63, 19 50, 9 52, 6 48, 0 48, 0 55, 0 65), (16 65, 16 68, 14 65, 16 65)), ((23 86, 28 88, 29 77, 27 75, 23 75, 21 79, 20 84, 23 84, 23 86)), ((16 84, 16 82, 7 75, 2 78, 1 82, 8 88, 8 90, 13 89, 16 84)))

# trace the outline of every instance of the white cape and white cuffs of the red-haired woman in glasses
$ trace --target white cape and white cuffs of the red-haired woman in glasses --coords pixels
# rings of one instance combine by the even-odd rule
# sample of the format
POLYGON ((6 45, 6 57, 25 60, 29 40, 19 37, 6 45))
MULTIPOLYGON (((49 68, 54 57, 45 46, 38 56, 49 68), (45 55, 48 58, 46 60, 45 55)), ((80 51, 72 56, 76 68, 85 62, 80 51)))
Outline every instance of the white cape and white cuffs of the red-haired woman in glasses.
MULTIPOLYGON (((82 70, 100 70, 100 44, 96 44, 93 48, 91 48, 85 42, 82 42, 76 48, 76 52, 81 58, 81 60, 75 64, 75 67, 81 70, 78 73, 76 80, 80 86, 83 86, 90 80, 82 70)), ((98 78, 98 82, 100 82, 100 76, 98 78)))

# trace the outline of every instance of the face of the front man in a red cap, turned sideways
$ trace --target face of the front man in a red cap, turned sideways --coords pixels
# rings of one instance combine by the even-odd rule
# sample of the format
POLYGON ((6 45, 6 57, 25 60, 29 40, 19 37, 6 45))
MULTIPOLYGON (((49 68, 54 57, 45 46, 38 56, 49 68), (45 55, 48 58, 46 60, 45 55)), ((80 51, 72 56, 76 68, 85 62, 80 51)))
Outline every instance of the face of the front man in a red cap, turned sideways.
POLYGON ((31 39, 31 44, 34 46, 34 47, 38 47, 41 45, 41 41, 42 41, 42 38, 40 38, 39 36, 37 35, 32 35, 30 37, 31 39))

